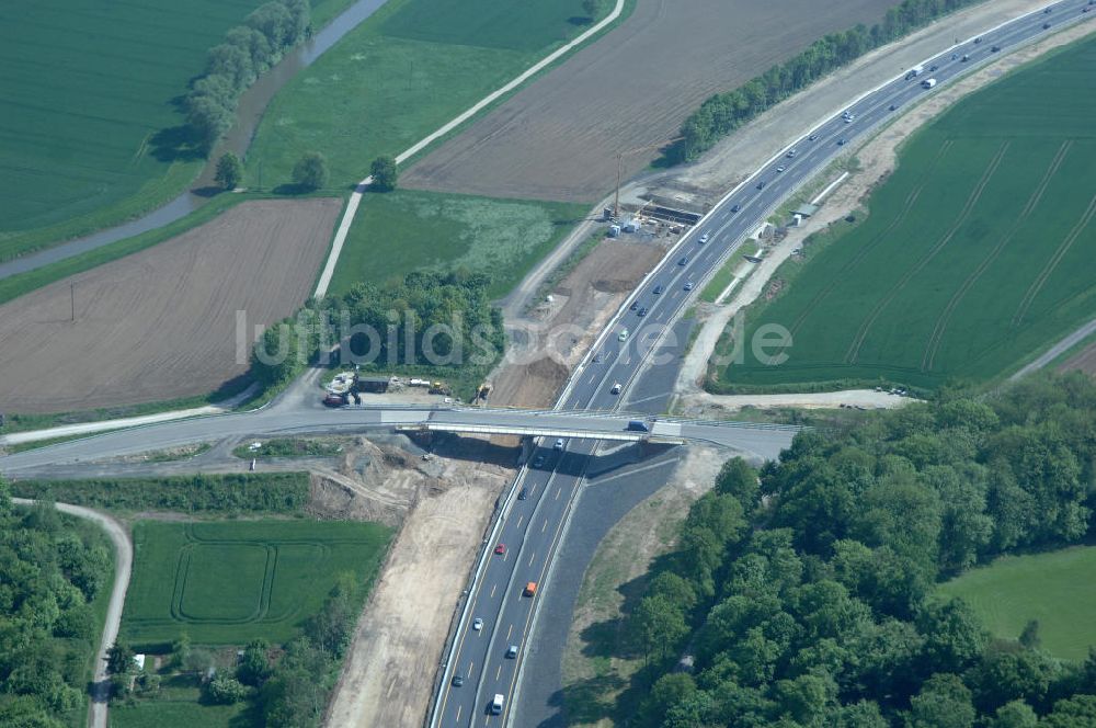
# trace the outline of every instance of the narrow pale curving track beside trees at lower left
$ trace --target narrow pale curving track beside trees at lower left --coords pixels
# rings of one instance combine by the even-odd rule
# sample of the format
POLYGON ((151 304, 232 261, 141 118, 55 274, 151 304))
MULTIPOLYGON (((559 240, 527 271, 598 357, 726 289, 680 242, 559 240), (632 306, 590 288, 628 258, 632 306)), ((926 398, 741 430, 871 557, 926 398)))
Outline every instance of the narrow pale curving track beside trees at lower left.
MULTIPOLYGON (((12 498, 20 505, 34 505, 37 501, 27 498, 12 498)), ((110 681, 106 679, 106 651, 118 638, 118 626, 122 624, 122 607, 126 602, 126 590, 129 588, 129 573, 133 570, 134 548, 129 542, 126 527, 113 516, 101 511, 93 511, 81 505, 56 503, 57 510, 81 519, 94 521, 106 531, 114 543, 114 587, 111 589, 111 602, 106 606, 106 624, 103 625, 103 637, 99 641, 95 655, 95 671, 92 678, 91 705, 88 710, 90 728, 106 728, 107 701, 110 699, 110 681)))

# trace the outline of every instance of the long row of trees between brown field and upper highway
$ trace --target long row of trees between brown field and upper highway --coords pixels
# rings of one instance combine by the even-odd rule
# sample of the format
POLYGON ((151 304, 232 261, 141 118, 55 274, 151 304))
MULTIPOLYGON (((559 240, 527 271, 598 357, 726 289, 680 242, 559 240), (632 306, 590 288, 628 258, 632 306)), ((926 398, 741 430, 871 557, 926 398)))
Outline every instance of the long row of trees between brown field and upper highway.
POLYGON ((744 86, 708 98, 682 124, 683 139, 671 153, 676 157, 675 161, 695 159, 739 126, 826 73, 941 15, 980 1, 904 0, 888 10, 883 20, 870 29, 859 24, 844 32, 831 33, 744 86))

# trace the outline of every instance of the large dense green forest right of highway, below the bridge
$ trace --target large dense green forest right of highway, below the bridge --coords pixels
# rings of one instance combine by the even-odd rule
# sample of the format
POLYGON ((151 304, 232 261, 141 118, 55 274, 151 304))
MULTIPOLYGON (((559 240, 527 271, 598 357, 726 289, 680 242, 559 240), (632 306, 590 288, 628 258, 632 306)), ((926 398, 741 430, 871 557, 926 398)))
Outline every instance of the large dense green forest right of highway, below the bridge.
POLYGON ((644 668, 623 714, 666 728, 1096 726, 1096 653, 1054 659, 1035 624, 992 638, 933 593, 996 555, 1084 541, 1094 468, 1096 385, 1080 374, 802 432, 760 474, 728 462, 627 614, 644 668))

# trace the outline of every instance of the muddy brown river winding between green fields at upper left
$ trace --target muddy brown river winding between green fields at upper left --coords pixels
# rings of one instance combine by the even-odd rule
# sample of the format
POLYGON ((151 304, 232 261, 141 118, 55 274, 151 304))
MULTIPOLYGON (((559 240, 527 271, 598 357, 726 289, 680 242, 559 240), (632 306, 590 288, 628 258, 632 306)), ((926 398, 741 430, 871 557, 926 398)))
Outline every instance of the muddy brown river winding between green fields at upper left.
POLYGON ((0 263, 0 278, 26 273, 27 271, 85 253, 89 250, 101 248, 117 240, 124 240, 125 238, 147 232, 148 230, 155 230, 190 215, 209 202, 210 197, 208 195, 196 194, 195 191, 214 186, 213 178, 216 173, 217 159, 226 151, 233 151, 242 158, 248 147, 251 146, 255 128, 259 126, 263 112, 266 111, 266 105, 270 104, 274 94, 289 79, 312 65, 317 58, 342 39, 344 35, 357 27, 365 19, 375 13, 383 4, 385 4, 385 0, 358 0, 340 15, 335 16, 322 31, 293 48, 277 66, 266 71, 250 89, 244 91, 240 96, 240 103, 236 111, 236 125, 229 129, 226 137, 214 152, 209 155, 209 160, 190 190, 165 205, 122 225, 100 230, 83 238, 75 238, 59 246, 23 255, 7 263, 0 263))

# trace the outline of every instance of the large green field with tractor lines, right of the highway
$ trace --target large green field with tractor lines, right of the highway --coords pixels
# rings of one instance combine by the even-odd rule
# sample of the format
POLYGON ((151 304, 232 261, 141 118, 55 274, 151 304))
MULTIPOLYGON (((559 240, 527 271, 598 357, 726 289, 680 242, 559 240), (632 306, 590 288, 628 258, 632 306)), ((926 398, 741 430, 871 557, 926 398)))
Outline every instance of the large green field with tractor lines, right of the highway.
POLYGON ((1096 39, 1075 44, 916 134, 867 218, 817 238, 750 311, 746 351, 780 325, 788 362, 747 356, 709 388, 984 380, 1096 315, 1094 64, 1096 39))

